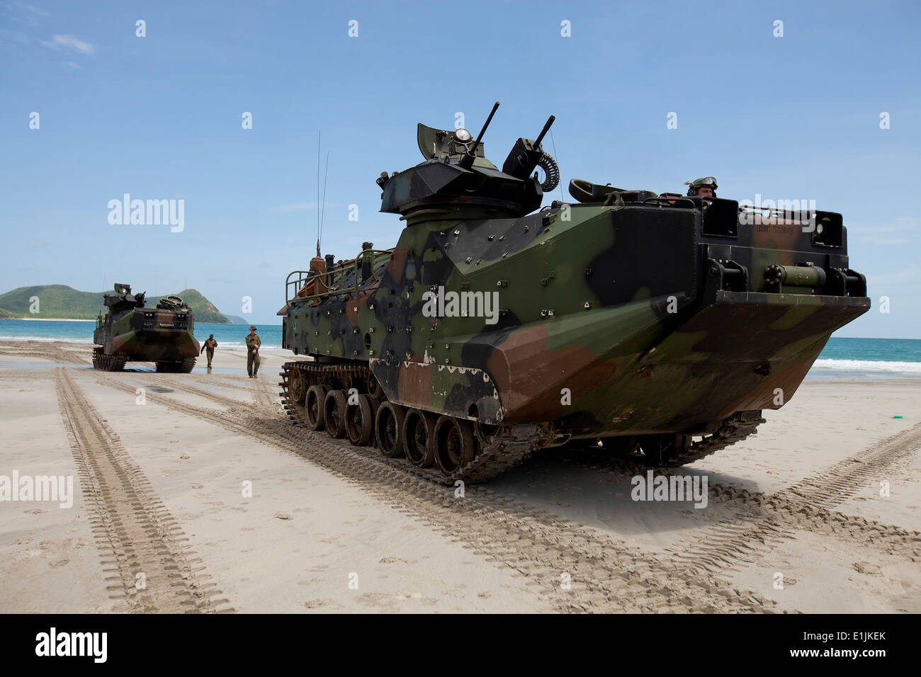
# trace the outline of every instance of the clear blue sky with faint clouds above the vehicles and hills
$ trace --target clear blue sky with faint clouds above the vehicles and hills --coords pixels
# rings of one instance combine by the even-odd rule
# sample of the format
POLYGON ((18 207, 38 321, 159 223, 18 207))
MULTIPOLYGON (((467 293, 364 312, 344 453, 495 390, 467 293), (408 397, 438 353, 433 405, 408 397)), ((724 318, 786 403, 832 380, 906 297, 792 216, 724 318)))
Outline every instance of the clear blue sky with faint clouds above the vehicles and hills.
POLYGON ((715 175, 723 197, 843 213, 875 308, 838 335, 921 338, 919 18, 909 2, 0 2, 0 292, 193 286, 277 321, 315 248, 318 131, 323 250, 350 258, 399 236, 374 180, 421 160, 415 123, 460 111, 475 134, 499 100, 487 155, 554 114, 564 185, 715 175), (123 193, 183 199, 184 230, 111 226, 123 193))

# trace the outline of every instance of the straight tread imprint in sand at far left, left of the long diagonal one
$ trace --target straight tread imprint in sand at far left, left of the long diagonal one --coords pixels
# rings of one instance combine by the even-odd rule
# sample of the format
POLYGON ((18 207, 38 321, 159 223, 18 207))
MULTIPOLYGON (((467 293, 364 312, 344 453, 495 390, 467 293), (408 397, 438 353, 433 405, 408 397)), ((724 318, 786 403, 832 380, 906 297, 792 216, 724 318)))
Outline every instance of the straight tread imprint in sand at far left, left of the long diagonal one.
POLYGON ((233 611, 187 547, 176 520, 64 368, 55 390, 116 611, 233 611), (145 588, 138 589, 138 574, 145 588))

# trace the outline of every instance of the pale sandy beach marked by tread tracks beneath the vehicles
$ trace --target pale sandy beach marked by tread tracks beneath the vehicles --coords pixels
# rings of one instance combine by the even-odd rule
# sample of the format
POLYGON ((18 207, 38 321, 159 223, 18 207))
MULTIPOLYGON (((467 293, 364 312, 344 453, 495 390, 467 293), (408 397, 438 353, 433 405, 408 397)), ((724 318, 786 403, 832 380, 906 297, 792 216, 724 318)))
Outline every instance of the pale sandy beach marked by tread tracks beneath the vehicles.
POLYGON ((694 508, 575 450, 456 496, 291 426, 290 359, 110 373, 87 344, 0 343, 0 476, 74 487, 0 501, 0 612, 921 612, 916 380, 807 380, 672 472, 706 478, 694 508))

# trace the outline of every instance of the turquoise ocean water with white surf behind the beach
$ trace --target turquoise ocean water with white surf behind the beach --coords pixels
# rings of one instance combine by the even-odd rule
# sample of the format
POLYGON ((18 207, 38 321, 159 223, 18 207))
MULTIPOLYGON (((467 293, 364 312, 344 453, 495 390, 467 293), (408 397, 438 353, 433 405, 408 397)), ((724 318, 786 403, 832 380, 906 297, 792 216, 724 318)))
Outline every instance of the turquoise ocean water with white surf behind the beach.
MULTIPOLYGON (((0 320, 0 341, 71 341, 93 343, 95 321, 0 320)), ((262 347, 280 349, 280 324, 257 324, 262 347)), ((215 334, 221 347, 241 348, 249 325, 195 322, 195 338, 204 341, 215 334)), ((921 379, 921 340, 829 339, 810 369, 808 379, 921 379)))

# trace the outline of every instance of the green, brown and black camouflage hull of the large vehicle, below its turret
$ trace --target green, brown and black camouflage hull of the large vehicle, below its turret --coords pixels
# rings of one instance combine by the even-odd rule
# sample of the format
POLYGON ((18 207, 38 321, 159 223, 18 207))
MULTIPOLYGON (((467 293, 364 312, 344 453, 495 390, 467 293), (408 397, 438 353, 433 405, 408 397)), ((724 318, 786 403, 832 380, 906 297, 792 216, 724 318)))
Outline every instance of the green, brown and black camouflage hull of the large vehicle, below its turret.
MULTIPOLYGON (((402 193, 412 171, 399 175, 402 193)), ((869 309, 840 215, 820 213, 816 239, 790 214, 747 224, 735 201, 636 194, 508 218, 414 206, 358 294, 335 294, 355 286, 346 262, 330 294, 286 299, 283 344, 369 365, 394 403, 484 424, 703 434, 787 403, 829 336, 869 309), (772 264, 822 268, 827 283, 771 286, 772 264), (498 292, 497 322, 425 317, 437 286, 498 292)))

